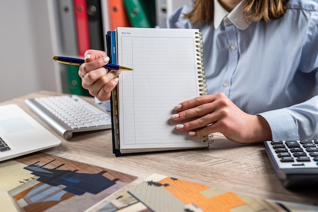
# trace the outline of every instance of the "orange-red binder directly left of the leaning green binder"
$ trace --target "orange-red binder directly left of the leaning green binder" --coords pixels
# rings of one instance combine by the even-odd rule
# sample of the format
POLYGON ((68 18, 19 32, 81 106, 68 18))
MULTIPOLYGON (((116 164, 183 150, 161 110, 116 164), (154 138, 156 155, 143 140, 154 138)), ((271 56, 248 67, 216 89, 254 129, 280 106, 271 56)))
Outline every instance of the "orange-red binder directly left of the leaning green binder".
POLYGON ((131 26, 122 0, 108 0, 108 10, 111 30, 118 26, 131 26))

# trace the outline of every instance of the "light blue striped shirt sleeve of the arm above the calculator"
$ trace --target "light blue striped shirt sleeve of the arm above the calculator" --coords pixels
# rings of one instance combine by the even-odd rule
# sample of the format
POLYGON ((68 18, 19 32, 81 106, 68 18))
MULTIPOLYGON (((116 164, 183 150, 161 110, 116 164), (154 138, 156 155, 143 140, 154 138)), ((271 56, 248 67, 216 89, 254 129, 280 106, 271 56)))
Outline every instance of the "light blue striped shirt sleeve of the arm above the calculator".
POLYGON ((270 125, 273 140, 318 138, 318 12, 311 15, 307 39, 302 48, 299 71, 315 77, 314 97, 289 108, 260 113, 270 125), (313 74, 313 75, 312 75, 313 74))

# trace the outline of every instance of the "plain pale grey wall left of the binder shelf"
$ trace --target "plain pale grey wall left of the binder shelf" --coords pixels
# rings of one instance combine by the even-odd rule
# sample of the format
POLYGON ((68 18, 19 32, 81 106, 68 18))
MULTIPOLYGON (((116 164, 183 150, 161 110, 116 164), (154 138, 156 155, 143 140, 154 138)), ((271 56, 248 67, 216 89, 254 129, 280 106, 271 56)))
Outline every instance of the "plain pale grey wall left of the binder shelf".
POLYGON ((47 1, 2 1, 0 20, 0 102, 57 91, 47 1))

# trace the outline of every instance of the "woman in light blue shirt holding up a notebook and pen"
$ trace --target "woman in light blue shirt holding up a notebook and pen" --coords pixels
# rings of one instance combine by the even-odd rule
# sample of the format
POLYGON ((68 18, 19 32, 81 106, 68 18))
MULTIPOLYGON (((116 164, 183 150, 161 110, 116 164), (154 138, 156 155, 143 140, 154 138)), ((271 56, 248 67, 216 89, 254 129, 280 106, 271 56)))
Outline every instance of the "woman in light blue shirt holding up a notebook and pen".
MULTIPOLYGON (((203 34, 210 94, 176 105, 176 129, 239 143, 318 138, 317 24, 314 0, 197 0, 175 11, 168 27, 203 34)), ((83 87, 108 100, 120 72, 101 68, 105 52, 85 57, 83 87)))

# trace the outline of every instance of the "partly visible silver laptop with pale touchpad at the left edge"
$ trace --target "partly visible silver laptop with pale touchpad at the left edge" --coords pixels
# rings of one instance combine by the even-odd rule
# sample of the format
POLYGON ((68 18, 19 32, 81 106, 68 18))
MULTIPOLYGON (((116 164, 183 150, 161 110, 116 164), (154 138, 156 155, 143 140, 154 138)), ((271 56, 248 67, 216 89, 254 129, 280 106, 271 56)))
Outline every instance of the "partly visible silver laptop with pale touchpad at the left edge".
POLYGON ((61 143, 16 104, 0 105, 0 161, 55 147, 61 143))

